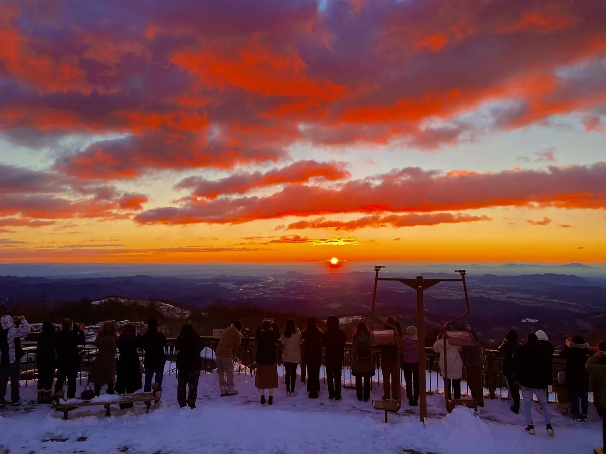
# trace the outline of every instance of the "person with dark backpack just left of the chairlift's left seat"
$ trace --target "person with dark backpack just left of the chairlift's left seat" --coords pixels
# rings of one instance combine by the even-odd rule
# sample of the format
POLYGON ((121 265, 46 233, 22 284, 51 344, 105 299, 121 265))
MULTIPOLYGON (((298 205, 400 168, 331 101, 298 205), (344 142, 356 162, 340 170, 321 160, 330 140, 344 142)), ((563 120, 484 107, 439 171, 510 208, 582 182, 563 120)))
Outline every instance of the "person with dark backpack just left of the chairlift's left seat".
POLYGON ((356 397, 359 401, 367 402, 370 399, 371 377, 375 376, 375 358, 372 351, 372 337, 364 321, 358 323, 351 344, 353 346, 351 374, 356 377, 356 397))

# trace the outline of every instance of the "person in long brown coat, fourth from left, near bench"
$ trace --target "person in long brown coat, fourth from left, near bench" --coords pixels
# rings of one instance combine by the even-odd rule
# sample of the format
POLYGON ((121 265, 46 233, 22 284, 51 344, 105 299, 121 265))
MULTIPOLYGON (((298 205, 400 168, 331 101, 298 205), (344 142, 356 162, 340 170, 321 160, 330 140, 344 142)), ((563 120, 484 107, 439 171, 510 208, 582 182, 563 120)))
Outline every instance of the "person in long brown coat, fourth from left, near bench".
POLYGON ((101 387, 107 384, 107 393, 114 393, 116 383, 116 351, 118 351, 118 325, 104 321, 95 339, 98 350, 88 373, 89 383, 95 383, 95 395, 101 395, 101 387))

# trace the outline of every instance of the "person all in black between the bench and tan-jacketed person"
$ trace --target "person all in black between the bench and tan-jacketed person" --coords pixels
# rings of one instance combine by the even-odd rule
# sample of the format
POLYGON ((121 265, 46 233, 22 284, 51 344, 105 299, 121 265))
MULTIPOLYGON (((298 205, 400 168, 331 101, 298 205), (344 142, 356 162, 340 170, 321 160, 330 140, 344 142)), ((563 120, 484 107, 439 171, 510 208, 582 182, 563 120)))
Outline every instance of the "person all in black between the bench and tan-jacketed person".
POLYGON ((198 399, 198 381, 202 368, 200 354, 204 350, 204 342, 193 329, 193 326, 186 323, 181 327, 181 332, 175 341, 175 347, 177 349, 176 366, 178 370, 177 401, 179 407, 182 408, 187 405, 193 410, 196 408, 196 400, 198 399))

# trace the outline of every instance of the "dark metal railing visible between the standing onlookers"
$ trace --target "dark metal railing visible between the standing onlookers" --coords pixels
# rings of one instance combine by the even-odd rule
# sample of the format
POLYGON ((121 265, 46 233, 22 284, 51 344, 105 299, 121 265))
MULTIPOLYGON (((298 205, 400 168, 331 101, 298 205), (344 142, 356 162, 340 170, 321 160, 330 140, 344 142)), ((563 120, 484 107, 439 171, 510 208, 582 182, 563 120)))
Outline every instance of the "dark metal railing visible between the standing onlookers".
MULTIPOLYGON (((201 355, 202 360, 202 373, 212 373, 212 371, 216 368, 215 366, 215 350, 219 344, 219 340, 213 337, 201 337, 202 341, 204 341, 206 345, 206 349, 203 350, 201 355)), ((21 360, 21 380, 25 381, 25 386, 28 386, 28 382, 35 381, 38 377, 38 369, 36 367, 36 342, 24 342, 24 351, 25 356, 21 360)), ((282 350, 283 346, 281 343, 276 344, 276 360, 278 365, 282 365, 282 350)), ((90 367, 92 366, 95 355, 98 351, 95 343, 92 341, 87 341, 84 346, 80 347, 81 350, 81 364, 78 373, 79 381, 82 384, 82 379, 88 376, 88 372, 90 372, 90 367)), ((250 338, 248 340, 243 340, 242 344, 239 347, 236 347, 234 351, 234 357, 236 361, 241 364, 242 367, 238 367, 237 375, 249 374, 253 375, 254 367, 252 366, 256 361, 256 353, 257 353, 257 343, 255 338, 250 338)), ((168 374, 175 372, 176 370, 176 347, 175 347, 175 338, 167 339, 167 346, 165 349, 166 360, 168 363, 168 374)), ((322 368, 324 369, 323 377, 326 375, 325 370, 325 361, 324 361, 325 351, 322 349, 322 368)), ((373 380, 373 386, 375 384, 377 386, 381 386, 381 375, 379 375, 379 370, 381 370, 381 351, 378 347, 373 348, 373 355, 375 357, 375 378, 373 380)), ((139 357, 142 361, 145 360, 145 353, 141 351, 139 357)), ((482 383, 484 389, 488 390, 488 396, 490 399, 501 398, 505 399, 507 396, 504 395, 504 391, 507 390, 505 385, 504 376, 502 373, 503 366, 503 355, 501 355, 497 350, 485 350, 484 351, 485 362, 482 364, 482 383)), ((303 360, 303 355, 302 355, 303 360)), ((355 387, 355 377, 351 372, 351 363, 353 360, 353 346, 351 343, 345 344, 344 351, 344 361, 343 361, 343 372, 342 372, 342 384, 346 388, 355 387)), ((553 356, 553 383, 557 383, 557 376, 559 372, 562 372, 565 369, 566 361, 560 358, 558 355, 553 356)), ((282 369, 282 377, 284 377, 284 368, 282 369)), ((305 370, 304 370, 304 360, 301 365, 302 374, 301 379, 305 381, 305 370)), ((425 370, 427 371, 427 392, 430 394, 433 393, 443 393, 443 387, 439 386, 441 381, 441 375, 439 373, 439 354, 433 351, 433 347, 425 348, 425 370)), ((404 383, 404 374, 401 371, 400 373, 400 383, 404 383)), ((464 386, 462 388, 462 394, 470 395, 469 387, 467 386, 467 380, 465 377, 465 370, 463 371, 463 380, 464 386), (465 392, 467 391, 467 392, 465 392)), ((322 383, 325 383, 325 378, 322 378, 322 383)), ((593 391, 592 387, 593 383, 589 381, 589 391, 593 391)), ((550 394, 550 401, 554 402, 555 398, 552 394, 550 394)))

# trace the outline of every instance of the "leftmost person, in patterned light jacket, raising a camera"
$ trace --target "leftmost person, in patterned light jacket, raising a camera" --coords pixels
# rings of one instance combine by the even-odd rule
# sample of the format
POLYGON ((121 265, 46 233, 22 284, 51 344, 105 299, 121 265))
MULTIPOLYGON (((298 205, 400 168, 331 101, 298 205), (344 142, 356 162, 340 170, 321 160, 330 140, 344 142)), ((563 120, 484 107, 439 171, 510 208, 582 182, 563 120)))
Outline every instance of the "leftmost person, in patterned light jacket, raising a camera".
POLYGON ((10 378, 10 400, 14 406, 21 404, 19 396, 19 375, 21 358, 24 355, 21 338, 30 334, 30 326, 25 317, 3 315, 0 318, 0 407, 6 404, 6 387, 10 378))

